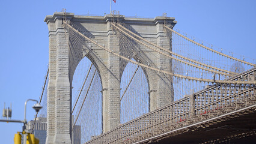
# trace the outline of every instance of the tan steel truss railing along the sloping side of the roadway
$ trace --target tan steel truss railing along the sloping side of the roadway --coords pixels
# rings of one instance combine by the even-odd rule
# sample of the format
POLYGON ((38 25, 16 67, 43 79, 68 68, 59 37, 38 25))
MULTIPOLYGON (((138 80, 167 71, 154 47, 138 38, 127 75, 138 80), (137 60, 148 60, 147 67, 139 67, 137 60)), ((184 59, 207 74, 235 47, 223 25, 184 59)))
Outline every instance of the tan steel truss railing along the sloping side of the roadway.
MULTIPOLYGON (((255 81, 256 67, 228 80, 255 81)), ((256 103, 255 85, 216 84, 139 116, 87 143, 133 143, 256 103), (198 118, 195 120, 195 118, 198 118)))

